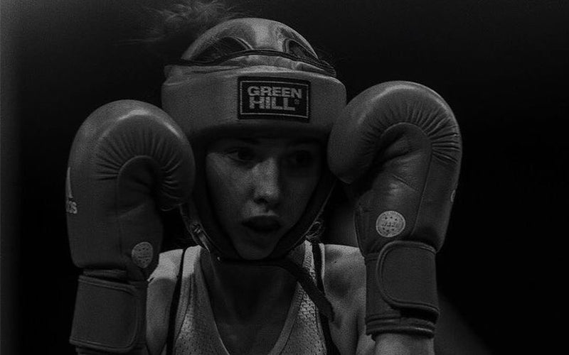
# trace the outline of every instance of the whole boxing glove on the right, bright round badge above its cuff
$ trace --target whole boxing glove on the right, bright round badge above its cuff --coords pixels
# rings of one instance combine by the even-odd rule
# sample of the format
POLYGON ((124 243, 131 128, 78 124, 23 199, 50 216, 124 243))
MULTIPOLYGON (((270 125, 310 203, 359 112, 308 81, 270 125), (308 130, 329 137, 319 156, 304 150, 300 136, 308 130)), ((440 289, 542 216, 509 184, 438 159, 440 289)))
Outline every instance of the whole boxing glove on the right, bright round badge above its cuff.
POLYGON ((461 157, 450 107, 413 82, 366 89, 334 124, 329 167, 354 199, 368 334, 434 336, 435 253, 445 239, 461 157))

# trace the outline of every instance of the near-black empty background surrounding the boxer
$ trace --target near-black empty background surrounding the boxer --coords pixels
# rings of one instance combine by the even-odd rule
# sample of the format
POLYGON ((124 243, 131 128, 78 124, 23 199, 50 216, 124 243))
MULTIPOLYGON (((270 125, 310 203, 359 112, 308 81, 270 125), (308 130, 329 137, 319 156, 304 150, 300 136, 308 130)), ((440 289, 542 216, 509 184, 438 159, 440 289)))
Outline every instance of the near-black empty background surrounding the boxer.
MULTIPOLYGON (((445 97, 464 159, 438 257, 441 293, 496 354, 563 344, 568 1, 234 2, 289 24, 329 55, 349 98, 387 80, 445 97)), ((131 40, 141 7, 164 3, 2 1, 2 354, 73 353, 68 151, 101 104, 159 104, 161 62, 131 40)))

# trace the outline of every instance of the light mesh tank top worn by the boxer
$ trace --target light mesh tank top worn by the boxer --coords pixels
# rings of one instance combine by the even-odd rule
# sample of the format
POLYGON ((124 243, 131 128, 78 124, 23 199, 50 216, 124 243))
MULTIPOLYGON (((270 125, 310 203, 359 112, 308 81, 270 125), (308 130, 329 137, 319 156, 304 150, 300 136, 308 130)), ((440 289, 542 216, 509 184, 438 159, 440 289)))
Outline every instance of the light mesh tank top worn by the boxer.
MULTIPOLYGON (((304 243, 302 267, 316 280, 312 249, 308 241, 304 243)), ((213 317, 199 258, 198 247, 188 249, 184 257, 174 354, 228 355, 213 317)), ((285 325, 269 354, 326 354, 319 312, 299 283, 294 290, 285 325)))

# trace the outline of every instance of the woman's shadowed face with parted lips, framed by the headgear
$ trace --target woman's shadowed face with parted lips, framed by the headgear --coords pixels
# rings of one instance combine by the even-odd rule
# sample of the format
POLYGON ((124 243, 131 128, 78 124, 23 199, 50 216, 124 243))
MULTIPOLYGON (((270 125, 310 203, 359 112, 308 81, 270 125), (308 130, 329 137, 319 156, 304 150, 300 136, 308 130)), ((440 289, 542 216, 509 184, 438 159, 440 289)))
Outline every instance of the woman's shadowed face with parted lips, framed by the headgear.
POLYGON ((322 165, 316 141, 224 138, 208 147, 213 209, 242 258, 270 255, 304 213, 322 165))

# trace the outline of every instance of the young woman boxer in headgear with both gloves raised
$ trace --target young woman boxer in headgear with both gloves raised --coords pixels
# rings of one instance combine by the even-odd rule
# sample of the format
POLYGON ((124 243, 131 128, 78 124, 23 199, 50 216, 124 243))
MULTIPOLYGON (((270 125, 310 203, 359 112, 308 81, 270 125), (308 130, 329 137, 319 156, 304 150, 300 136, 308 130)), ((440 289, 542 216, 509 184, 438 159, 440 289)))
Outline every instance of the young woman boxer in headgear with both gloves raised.
POLYGON ((461 155, 435 92, 388 82, 346 106, 299 33, 237 18, 169 67, 162 99, 105 105, 72 147, 78 353, 433 354, 461 155), (334 185, 359 249, 319 242, 334 185), (198 246, 159 255, 174 208, 198 246))

